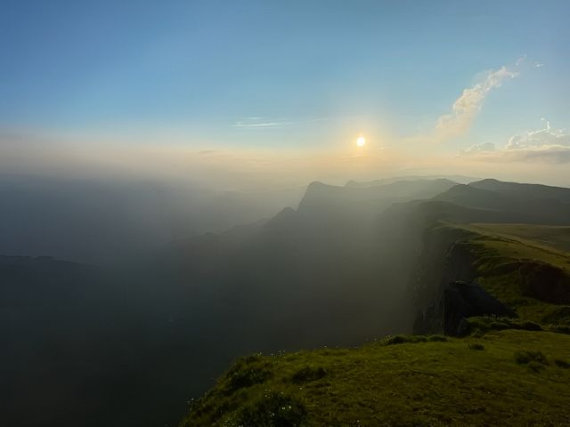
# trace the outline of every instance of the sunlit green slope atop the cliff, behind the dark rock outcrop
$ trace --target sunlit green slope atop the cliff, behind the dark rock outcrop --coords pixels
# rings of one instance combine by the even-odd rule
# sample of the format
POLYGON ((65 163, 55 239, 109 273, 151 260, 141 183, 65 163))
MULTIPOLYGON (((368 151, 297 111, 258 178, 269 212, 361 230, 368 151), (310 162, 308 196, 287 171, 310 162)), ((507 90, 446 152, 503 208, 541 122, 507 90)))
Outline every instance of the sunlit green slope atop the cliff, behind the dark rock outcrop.
POLYGON ((541 262, 564 272, 570 283, 570 227, 528 224, 446 224, 473 232, 468 238, 480 277, 476 282, 517 314, 541 324, 570 325, 570 307, 525 296, 521 264, 541 262))

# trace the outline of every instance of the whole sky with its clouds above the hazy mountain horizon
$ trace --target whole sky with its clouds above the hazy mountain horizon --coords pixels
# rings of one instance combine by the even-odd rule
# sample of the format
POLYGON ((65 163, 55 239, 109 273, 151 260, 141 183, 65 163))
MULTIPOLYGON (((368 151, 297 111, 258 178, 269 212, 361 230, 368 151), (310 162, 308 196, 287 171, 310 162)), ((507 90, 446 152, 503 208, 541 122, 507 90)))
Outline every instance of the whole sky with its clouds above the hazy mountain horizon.
POLYGON ((570 185, 567 1, 0 5, 7 173, 570 185))

